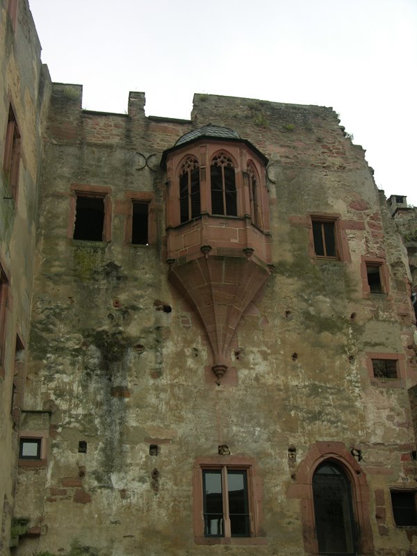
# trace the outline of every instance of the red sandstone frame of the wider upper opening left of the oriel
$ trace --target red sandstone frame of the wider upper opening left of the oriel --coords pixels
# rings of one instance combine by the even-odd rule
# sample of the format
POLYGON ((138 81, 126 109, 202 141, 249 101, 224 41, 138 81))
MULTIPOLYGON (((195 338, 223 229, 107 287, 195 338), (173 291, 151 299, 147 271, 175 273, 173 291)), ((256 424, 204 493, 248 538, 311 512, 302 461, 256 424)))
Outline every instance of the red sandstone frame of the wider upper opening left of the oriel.
MULTIPOLYGON (((76 220, 76 199, 77 197, 92 197, 103 199, 104 202, 104 222, 103 234, 101 241, 109 243, 111 241, 111 222, 112 222, 112 204, 111 204, 111 188, 106 186, 91 186, 85 183, 73 183, 70 187, 70 218, 67 227, 67 237, 74 240, 74 229, 76 220)), ((74 240, 89 241, 89 240, 74 240)), ((96 243, 100 243, 97 241, 96 243)))

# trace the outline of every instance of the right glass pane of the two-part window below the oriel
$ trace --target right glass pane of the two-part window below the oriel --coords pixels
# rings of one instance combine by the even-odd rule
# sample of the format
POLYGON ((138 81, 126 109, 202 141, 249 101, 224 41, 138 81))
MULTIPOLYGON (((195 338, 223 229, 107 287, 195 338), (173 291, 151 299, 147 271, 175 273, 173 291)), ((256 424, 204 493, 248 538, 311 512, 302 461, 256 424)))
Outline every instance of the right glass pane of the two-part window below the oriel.
POLYGON ((232 537, 249 537, 246 471, 228 470, 229 517, 232 537))

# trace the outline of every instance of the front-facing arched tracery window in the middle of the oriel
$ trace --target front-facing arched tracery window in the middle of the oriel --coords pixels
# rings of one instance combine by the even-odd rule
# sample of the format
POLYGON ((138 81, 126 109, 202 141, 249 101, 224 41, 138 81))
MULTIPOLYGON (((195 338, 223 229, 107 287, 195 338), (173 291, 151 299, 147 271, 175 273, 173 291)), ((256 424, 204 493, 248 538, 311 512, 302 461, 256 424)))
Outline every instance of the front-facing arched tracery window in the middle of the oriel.
POLYGON ((237 216, 236 175, 231 158, 220 153, 211 161, 211 213, 237 216))

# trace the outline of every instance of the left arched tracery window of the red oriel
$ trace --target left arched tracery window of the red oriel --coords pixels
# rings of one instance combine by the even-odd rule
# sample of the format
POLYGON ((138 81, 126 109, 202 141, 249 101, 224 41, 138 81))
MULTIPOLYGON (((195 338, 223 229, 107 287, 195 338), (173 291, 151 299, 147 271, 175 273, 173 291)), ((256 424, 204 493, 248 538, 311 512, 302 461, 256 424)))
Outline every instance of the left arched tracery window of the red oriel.
POLYGON ((180 220, 188 222, 201 214, 200 181, 197 158, 188 156, 179 174, 180 220))

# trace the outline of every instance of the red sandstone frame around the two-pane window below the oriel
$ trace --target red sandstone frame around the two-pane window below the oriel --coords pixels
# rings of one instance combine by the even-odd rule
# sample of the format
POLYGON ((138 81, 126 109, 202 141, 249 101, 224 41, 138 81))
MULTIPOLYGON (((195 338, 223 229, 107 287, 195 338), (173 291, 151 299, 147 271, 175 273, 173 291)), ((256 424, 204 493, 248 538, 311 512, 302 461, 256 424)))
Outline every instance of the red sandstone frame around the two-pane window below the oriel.
MULTIPOLYGON (((256 545, 266 544, 261 537, 262 523, 262 484, 256 462, 242 456, 215 456, 199 458, 193 468, 193 523, 194 540, 199 545, 256 545), (249 507, 249 537, 204 537, 203 471, 210 469, 245 470, 247 473, 247 498, 249 507)), ((227 534, 227 530, 225 531, 227 534)))

